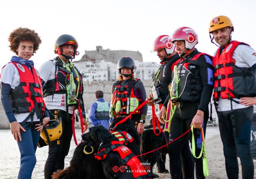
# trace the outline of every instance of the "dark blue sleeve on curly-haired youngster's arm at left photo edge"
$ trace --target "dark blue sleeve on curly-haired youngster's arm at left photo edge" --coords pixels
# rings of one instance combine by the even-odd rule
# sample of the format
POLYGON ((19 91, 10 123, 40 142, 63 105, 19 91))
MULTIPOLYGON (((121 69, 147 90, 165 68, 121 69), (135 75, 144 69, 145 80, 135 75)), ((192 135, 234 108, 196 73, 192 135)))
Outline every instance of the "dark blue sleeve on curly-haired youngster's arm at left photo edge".
POLYGON ((11 86, 9 84, 1 82, 1 101, 2 105, 4 107, 4 112, 6 113, 6 116, 9 120, 9 122, 14 122, 17 121, 14 114, 13 114, 13 109, 11 107, 11 101, 10 101, 10 91, 11 91, 11 86))

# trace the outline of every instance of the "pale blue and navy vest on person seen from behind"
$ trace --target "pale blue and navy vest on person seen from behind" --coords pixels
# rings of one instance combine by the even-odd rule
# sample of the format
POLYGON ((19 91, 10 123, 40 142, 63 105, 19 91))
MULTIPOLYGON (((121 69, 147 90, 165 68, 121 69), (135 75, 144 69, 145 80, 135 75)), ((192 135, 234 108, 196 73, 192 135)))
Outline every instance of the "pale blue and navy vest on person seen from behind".
POLYGON ((108 102, 95 101, 97 109, 95 110, 95 118, 97 120, 109 119, 109 105, 108 102))

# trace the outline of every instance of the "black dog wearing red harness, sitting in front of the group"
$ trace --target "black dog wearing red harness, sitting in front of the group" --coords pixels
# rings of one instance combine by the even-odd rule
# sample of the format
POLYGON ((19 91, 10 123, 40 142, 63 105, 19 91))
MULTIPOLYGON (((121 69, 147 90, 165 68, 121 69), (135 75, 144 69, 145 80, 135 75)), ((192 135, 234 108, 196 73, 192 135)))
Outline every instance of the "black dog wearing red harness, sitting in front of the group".
POLYGON ((96 158, 102 161, 103 172, 109 179, 150 178, 141 161, 102 125, 89 129, 83 140, 93 140, 98 148, 96 158))

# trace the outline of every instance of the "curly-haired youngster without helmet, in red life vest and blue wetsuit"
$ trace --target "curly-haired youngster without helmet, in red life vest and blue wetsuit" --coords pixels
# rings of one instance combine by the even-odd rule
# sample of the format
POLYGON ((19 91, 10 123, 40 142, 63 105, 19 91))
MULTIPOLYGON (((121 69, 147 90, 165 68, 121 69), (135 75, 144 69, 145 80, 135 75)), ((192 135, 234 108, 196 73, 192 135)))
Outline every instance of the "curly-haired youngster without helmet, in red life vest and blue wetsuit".
POLYGON ((41 78, 30 57, 41 39, 34 30, 18 28, 9 35, 10 49, 17 56, 2 68, 1 100, 11 133, 20 150, 18 179, 31 179, 40 131, 49 121, 43 101, 41 78))

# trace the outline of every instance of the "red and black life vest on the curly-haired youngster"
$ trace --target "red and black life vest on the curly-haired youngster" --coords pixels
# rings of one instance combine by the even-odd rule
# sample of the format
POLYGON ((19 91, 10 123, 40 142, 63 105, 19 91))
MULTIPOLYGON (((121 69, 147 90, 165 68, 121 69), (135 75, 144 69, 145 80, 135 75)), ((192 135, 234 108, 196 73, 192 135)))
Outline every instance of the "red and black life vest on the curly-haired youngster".
POLYGON ((37 118, 43 118, 45 104, 43 102, 43 91, 41 88, 41 78, 35 68, 31 70, 26 66, 15 62, 20 75, 20 84, 11 89, 10 101, 14 113, 28 113, 35 111, 37 118))

